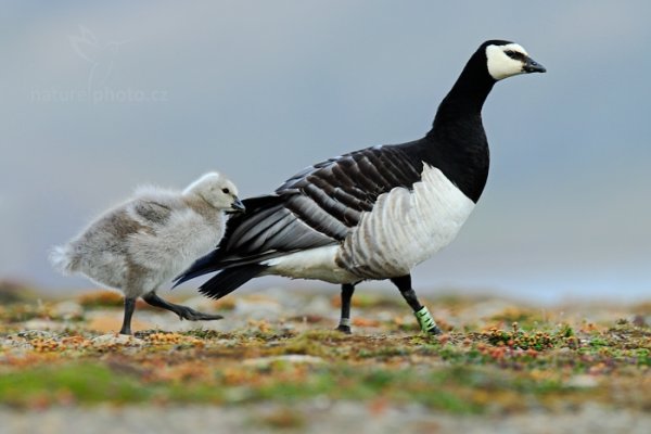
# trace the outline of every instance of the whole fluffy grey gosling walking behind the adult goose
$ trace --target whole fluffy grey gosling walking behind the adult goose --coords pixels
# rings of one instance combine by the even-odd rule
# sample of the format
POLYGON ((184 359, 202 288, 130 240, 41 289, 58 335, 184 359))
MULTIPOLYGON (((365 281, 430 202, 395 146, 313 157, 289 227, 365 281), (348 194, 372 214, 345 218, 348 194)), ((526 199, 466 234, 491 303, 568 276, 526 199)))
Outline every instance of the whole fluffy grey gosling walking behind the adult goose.
POLYGON ((224 235, 227 214, 242 210, 235 186, 218 173, 202 176, 182 192, 139 188, 128 202, 102 214, 67 244, 54 247, 50 260, 64 275, 84 275, 124 292, 122 334, 131 334, 138 297, 181 319, 221 319, 168 303, 156 290, 215 248, 224 235))

